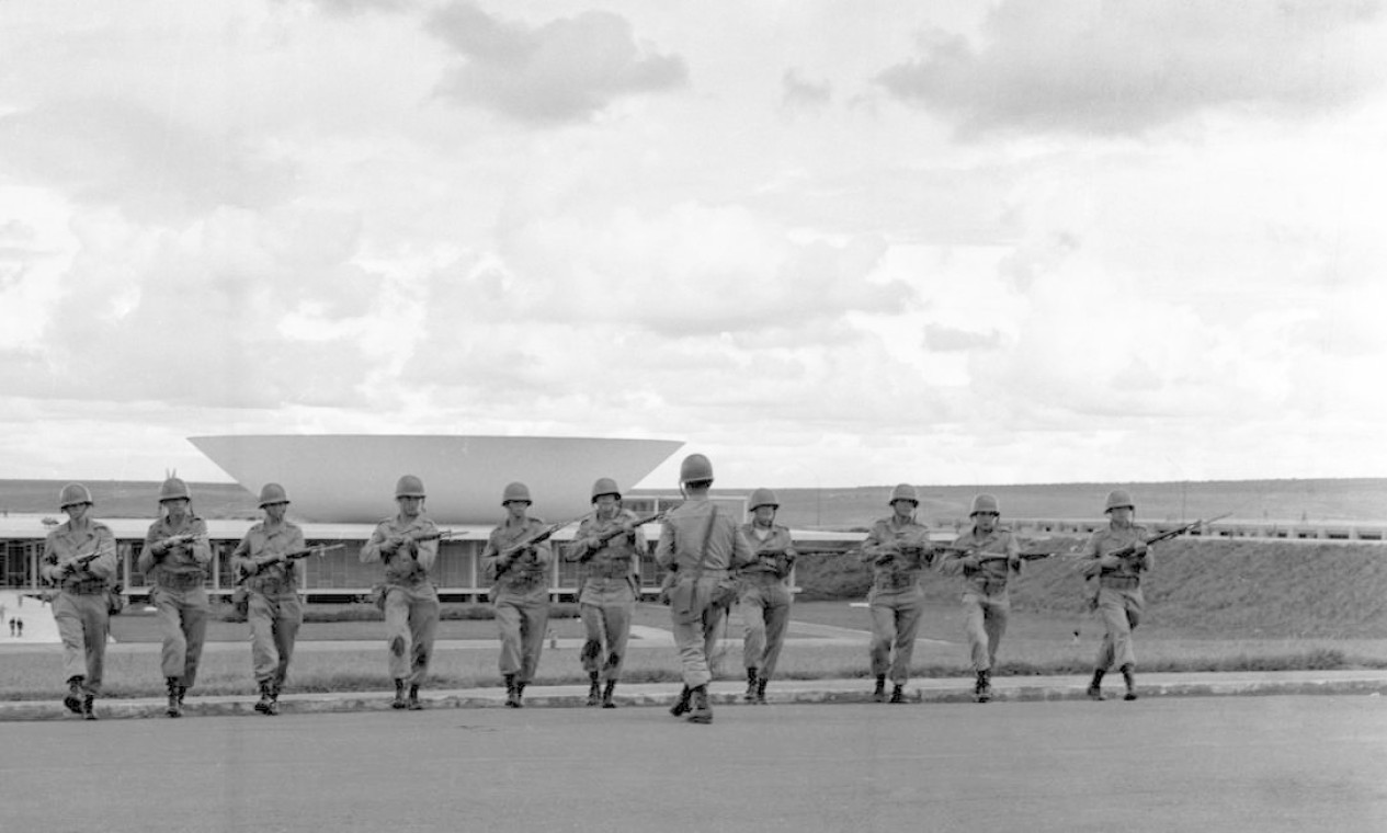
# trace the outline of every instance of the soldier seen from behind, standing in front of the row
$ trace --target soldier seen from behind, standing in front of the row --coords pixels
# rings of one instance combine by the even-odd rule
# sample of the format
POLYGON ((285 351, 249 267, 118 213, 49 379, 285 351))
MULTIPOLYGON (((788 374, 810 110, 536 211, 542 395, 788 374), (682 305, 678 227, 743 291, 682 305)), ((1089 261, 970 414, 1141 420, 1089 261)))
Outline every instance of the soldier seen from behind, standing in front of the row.
POLYGON ((707 683, 713 679, 707 646, 716 639, 723 610, 713 603, 720 582, 730 570, 755 560, 736 518, 709 500, 713 464, 703 455, 689 455, 680 464, 680 488, 685 502, 673 509, 660 531, 655 560, 675 572, 670 589, 670 617, 680 649, 684 690, 670 714, 689 714, 692 724, 712 724, 713 707, 707 683))

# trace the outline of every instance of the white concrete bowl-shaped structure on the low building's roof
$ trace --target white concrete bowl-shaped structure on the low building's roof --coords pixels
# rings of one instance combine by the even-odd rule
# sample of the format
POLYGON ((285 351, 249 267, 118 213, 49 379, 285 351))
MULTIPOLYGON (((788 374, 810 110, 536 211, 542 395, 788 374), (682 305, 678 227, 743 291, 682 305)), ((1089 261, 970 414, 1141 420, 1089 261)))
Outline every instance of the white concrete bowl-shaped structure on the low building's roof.
MULTIPOLYGON (((430 517, 441 524, 494 524, 501 491, 522 481, 531 514, 548 521, 591 509, 592 481, 631 489, 682 442, 588 437, 250 435, 189 442, 252 495, 266 482, 288 491, 290 514, 318 523, 373 523, 395 510, 395 481, 424 481, 430 517)), ((675 484, 669 484, 674 486, 675 484)))

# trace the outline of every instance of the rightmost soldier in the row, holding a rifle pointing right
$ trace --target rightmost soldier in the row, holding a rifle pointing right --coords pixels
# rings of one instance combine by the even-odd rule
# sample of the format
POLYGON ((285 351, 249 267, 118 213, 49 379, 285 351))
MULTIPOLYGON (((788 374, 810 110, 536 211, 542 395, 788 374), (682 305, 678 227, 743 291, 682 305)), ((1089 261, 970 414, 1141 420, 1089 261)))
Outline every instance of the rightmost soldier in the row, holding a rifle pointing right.
POLYGON ((1107 632, 1099 646, 1099 658, 1089 683, 1089 697, 1103 700, 1103 675, 1117 665, 1126 683, 1123 700, 1136 700, 1136 654, 1132 629, 1142 618, 1142 574, 1151 570, 1151 552, 1146 527, 1132 523, 1136 506, 1125 489, 1108 492, 1108 528, 1099 529, 1079 552, 1085 579, 1097 579, 1097 595, 1090 606, 1103 615, 1107 632))

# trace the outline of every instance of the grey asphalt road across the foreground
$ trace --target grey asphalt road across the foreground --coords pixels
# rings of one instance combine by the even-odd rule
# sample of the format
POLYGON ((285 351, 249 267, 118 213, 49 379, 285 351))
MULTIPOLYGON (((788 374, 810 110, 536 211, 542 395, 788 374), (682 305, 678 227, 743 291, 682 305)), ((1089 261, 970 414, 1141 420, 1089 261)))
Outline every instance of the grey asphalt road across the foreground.
POLYGON ((1387 829, 1381 697, 3 726, 0 830, 1387 829))

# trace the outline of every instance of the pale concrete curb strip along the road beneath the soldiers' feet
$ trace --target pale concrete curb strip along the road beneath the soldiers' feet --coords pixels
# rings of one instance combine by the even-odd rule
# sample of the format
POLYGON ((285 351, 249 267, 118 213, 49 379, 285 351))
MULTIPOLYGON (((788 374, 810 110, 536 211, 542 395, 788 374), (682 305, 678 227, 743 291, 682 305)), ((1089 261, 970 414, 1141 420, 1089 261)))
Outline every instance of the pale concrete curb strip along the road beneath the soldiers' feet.
MULTIPOLYGON (((1139 678, 1142 700, 1157 697, 1248 697, 1248 696, 1305 696, 1387 693, 1387 671, 1325 671, 1325 672, 1266 672, 1266 674, 1153 674, 1139 678)), ((717 681, 710 696, 716 705, 752 708, 742 701, 745 683, 717 681)), ((1035 703, 1085 700, 1087 681, 1082 678, 999 678, 993 681, 994 703, 1035 703)), ((871 703, 872 683, 868 679, 773 681, 766 692, 771 705, 798 703, 871 703)), ((1108 685, 1104 693, 1121 701, 1121 682, 1108 685)), ((906 700, 924 703, 972 703, 971 681, 963 678, 921 679, 906 686, 906 700)), ((677 683, 635 683, 617 686, 620 707, 667 707, 678 694, 677 683)), ((393 694, 387 692, 343 692, 284 694, 280 697, 283 715, 329 714, 356 711, 391 711, 393 694)), ((190 696, 184 717, 264 717, 255 712, 257 696, 190 696)), ((442 708, 503 708, 505 692, 498 687, 423 690, 420 700, 427 710, 442 708)), ((533 686, 526 692, 527 708, 585 708, 587 686, 533 686)), ((97 715, 103 719, 162 718, 165 700, 144 697, 130 700, 97 700, 97 715)), ((601 712, 603 710, 594 710, 601 712)), ((62 707, 61 694, 53 700, 0 701, 0 722, 80 719, 62 707)))

